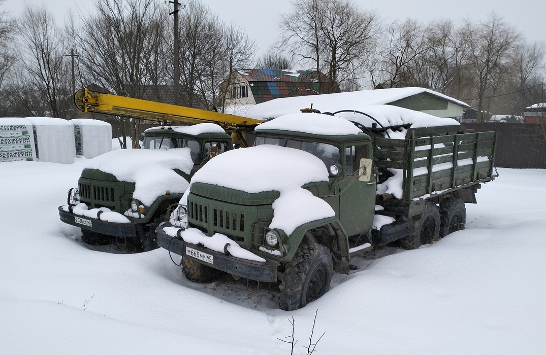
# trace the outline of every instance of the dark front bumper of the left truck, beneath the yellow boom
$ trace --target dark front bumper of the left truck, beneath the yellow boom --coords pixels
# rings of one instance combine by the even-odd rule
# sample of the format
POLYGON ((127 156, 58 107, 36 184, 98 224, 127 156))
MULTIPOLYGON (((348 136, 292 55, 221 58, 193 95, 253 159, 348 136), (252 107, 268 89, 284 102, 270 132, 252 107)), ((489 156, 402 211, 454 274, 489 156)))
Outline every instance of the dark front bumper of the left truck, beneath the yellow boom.
POLYGON ((102 221, 100 219, 88 218, 85 216, 80 216, 72 212, 66 212, 62 209, 62 206, 59 206, 59 216, 61 221, 66 224, 70 224, 79 228, 84 228, 89 231, 106 234, 108 236, 117 236, 117 237, 136 237, 137 234, 137 224, 134 222, 130 223, 116 223, 102 221))

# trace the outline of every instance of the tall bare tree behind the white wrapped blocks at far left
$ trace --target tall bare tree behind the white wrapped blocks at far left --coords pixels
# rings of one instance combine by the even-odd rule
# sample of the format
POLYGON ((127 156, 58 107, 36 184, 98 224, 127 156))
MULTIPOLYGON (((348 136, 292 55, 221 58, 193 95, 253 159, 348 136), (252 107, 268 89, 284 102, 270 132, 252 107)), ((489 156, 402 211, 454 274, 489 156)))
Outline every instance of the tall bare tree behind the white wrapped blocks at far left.
POLYGON ((66 118, 69 97, 69 69, 64 53, 64 35, 45 5, 26 5, 19 19, 21 65, 24 69, 19 98, 35 115, 66 118), (29 93, 32 92, 32 93, 29 93), (44 110, 29 101, 37 95, 44 110))

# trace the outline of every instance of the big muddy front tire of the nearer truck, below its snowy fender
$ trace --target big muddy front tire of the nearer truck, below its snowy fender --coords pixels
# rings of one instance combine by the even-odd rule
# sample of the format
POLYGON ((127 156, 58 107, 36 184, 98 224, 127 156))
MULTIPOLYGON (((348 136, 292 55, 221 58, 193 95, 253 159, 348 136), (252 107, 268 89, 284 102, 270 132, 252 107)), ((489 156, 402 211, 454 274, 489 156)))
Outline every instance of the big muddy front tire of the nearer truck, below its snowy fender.
POLYGON ((278 294, 278 308, 292 311, 318 299, 330 289, 333 264, 324 245, 302 244, 286 264, 278 294))

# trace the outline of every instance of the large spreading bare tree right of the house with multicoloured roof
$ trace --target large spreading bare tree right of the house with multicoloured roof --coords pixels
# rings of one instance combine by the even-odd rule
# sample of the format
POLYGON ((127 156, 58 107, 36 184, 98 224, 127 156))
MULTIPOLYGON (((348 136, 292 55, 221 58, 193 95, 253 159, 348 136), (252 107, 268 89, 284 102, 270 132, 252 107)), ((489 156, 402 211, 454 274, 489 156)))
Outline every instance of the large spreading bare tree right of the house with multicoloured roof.
POLYGON ((379 32, 377 14, 349 0, 296 0, 281 17, 278 47, 313 67, 319 75, 319 92, 339 91, 343 81, 358 77, 363 62, 375 50, 379 32))

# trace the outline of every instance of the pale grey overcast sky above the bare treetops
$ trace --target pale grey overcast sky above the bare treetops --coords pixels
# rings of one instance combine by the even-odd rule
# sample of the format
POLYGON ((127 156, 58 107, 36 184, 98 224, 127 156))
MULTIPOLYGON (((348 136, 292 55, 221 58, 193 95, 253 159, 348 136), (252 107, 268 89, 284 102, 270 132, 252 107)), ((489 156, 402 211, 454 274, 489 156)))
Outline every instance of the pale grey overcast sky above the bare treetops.
MULTIPOLYGON (((163 3, 163 0, 157 0, 163 3)), ((182 0, 192 1, 192 0, 182 0)), ((280 14, 290 11, 290 0, 200 0, 209 5, 226 22, 235 22, 244 26, 250 38, 255 39, 259 53, 266 51, 276 40, 279 33, 277 20, 280 14)), ((72 7, 83 13, 93 11, 92 1, 86 0, 43 0, 28 1, 29 4, 45 3, 60 21, 63 21, 67 10, 72 7), (79 9, 79 10, 78 10, 79 9)), ((396 19, 406 20, 408 17, 429 22, 440 18, 450 18, 460 21, 465 17, 479 21, 495 11, 510 25, 522 32, 531 41, 546 41, 545 31, 545 0, 389 0, 372 2, 354 0, 361 8, 377 10, 385 22, 396 19)), ((6 0, 4 6, 19 13, 23 8, 20 0, 6 0)), ((165 5, 165 16, 167 6, 165 5)))

